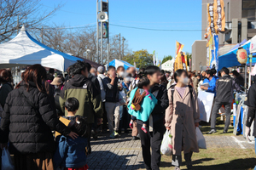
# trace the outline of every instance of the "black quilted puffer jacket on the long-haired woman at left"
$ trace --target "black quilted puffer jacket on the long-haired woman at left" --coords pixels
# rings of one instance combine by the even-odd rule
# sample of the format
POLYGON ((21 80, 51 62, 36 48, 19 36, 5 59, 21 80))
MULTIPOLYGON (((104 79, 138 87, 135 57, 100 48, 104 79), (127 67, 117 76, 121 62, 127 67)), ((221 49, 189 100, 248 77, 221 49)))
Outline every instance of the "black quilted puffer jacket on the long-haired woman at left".
POLYGON ((70 129, 57 118, 49 96, 39 92, 34 82, 29 84, 28 92, 25 83, 21 82, 20 90, 11 91, 6 99, 1 120, 3 134, 0 143, 6 143, 9 139, 11 153, 53 152, 55 142, 50 128, 63 135, 70 133, 70 129), (38 111, 29 105, 20 91, 38 111))

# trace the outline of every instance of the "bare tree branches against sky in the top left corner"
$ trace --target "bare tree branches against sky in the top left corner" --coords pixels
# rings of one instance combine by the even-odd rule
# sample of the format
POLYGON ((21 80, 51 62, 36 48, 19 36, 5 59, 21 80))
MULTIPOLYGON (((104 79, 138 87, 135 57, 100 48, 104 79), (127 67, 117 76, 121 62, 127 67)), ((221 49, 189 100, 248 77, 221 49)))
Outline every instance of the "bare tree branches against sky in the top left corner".
POLYGON ((43 10, 40 0, 0 0, 0 42, 9 40, 23 24, 40 27, 59 8, 43 10))

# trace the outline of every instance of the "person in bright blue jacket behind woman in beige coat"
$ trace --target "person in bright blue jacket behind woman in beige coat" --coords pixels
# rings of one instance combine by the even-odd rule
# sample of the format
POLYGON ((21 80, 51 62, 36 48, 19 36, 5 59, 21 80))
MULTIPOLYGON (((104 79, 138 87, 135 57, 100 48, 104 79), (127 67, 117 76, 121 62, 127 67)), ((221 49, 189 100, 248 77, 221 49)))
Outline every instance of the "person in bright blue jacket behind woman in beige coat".
POLYGON ((204 80, 203 83, 208 82, 209 83, 209 87, 205 87, 205 86, 201 86, 200 88, 202 90, 205 90, 206 92, 212 93, 214 94, 214 96, 216 96, 216 81, 217 81, 217 77, 214 77, 213 72, 211 70, 207 70, 206 71, 206 79, 204 80))

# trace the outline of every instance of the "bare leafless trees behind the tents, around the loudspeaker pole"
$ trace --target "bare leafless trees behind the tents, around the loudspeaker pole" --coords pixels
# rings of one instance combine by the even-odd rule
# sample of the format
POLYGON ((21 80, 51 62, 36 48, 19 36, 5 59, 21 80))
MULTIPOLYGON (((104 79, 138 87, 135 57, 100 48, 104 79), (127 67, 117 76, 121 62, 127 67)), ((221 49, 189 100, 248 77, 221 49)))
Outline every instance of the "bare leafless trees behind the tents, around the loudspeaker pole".
MULTIPOLYGON (((38 41, 43 42, 50 48, 97 62, 95 28, 84 27, 83 29, 73 31, 65 29, 64 26, 44 26, 44 30, 32 32, 38 41), (90 49, 90 54, 86 53, 87 49, 90 49)), ((109 43, 109 61, 119 59, 119 53, 123 51, 119 50, 119 38, 110 36, 109 43)), ((124 53, 131 53, 127 41, 124 44, 124 53)), ((107 39, 103 39, 103 63, 108 63, 107 39)))

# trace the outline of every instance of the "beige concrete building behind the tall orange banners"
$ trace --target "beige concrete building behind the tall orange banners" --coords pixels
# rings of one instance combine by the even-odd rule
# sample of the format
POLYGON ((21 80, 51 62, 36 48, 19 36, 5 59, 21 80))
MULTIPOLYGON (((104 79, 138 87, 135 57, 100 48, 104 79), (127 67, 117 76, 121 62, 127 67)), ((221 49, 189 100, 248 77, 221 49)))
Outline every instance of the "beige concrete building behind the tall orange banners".
MULTIPOLYGON (((205 40, 204 34, 208 26, 207 3, 213 3, 213 0, 202 0, 201 3, 201 40, 205 40)), ((219 52, 225 54, 228 49, 232 48, 236 43, 248 40, 256 35, 256 0, 224 0, 224 13, 226 19, 225 31, 219 33, 218 43, 219 52), (228 45, 228 47, 224 47, 228 45)), ((199 56, 207 57, 205 54, 196 54, 193 52, 193 46, 198 46, 195 41, 192 45, 192 59, 195 54, 195 59, 201 62, 201 65, 206 65, 199 56)), ((201 47, 201 48, 206 48, 201 47)), ((192 60, 193 62, 193 60, 192 60)), ((195 68, 192 65, 192 69, 195 68)))

